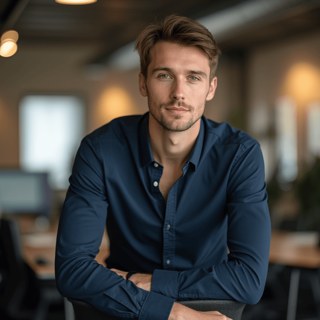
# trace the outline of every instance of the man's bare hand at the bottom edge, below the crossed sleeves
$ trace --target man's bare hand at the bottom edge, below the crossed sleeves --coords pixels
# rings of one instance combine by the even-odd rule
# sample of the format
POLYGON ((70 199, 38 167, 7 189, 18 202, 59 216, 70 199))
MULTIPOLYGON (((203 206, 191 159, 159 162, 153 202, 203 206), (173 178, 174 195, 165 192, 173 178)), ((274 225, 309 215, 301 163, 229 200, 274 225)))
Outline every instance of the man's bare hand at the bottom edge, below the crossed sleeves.
POLYGON ((196 311, 174 302, 168 320, 232 320, 218 311, 196 311))

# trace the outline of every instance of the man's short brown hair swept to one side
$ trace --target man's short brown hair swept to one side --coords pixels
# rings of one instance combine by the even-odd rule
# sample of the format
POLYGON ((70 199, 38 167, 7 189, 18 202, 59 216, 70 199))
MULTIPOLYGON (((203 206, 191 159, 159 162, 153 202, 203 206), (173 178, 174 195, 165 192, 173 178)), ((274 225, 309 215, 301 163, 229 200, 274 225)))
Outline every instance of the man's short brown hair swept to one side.
POLYGON ((158 41, 168 41, 181 46, 196 46, 209 58, 210 82, 218 66, 220 49, 211 32, 199 22, 177 14, 167 16, 162 23, 151 24, 138 34, 134 49, 140 56, 141 73, 147 79, 150 51, 158 41))

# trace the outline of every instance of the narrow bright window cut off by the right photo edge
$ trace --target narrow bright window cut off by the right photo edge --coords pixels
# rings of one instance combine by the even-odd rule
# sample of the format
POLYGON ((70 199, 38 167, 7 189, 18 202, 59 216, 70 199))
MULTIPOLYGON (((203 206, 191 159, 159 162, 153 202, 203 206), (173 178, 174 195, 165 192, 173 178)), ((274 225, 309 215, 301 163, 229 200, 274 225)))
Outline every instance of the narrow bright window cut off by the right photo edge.
POLYGON ((313 156, 320 157, 320 103, 308 108, 308 148, 313 156))

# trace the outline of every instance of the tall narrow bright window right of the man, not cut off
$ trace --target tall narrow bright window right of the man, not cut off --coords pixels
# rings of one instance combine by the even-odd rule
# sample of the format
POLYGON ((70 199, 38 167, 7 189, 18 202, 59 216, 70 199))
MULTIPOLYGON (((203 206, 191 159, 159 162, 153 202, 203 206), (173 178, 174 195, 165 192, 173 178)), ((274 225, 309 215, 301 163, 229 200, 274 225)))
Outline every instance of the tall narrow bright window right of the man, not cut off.
POLYGON ((297 105, 290 97, 281 97, 276 103, 276 129, 279 179, 292 182, 298 175, 297 105))

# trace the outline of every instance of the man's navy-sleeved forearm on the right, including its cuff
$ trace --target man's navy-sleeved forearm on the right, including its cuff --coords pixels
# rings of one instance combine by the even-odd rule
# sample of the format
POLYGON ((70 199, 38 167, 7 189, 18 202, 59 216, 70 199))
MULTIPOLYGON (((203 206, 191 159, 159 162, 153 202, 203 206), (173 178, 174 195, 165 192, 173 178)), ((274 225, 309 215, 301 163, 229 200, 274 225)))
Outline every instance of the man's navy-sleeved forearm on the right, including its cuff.
POLYGON ((236 259, 210 268, 187 271, 156 269, 151 291, 175 300, 234 299, 255 304, 263 292, 265 275, 236 259))

